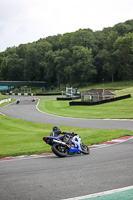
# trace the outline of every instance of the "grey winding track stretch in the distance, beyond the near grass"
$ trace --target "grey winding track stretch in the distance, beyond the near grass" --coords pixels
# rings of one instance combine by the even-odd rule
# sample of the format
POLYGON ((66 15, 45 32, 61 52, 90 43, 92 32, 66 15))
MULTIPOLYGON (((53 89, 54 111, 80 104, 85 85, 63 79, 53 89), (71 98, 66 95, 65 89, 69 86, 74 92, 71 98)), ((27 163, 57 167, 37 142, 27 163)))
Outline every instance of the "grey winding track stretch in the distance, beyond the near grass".
POLYGON ((35 102, 29 101, 27 97, 21 98, 20 104, 11 104, 0 108, 3 114, 18 119, 23 119, 32 122, 39 122, 53 125, 64 125, 71 127, 95 128, 95 129, 128 129, 133 130, 133 121, 128 120, 100 120, 100 119, 78 119, 69 117, 60 117, 39 112, 36 109, 38 100, 35 102))

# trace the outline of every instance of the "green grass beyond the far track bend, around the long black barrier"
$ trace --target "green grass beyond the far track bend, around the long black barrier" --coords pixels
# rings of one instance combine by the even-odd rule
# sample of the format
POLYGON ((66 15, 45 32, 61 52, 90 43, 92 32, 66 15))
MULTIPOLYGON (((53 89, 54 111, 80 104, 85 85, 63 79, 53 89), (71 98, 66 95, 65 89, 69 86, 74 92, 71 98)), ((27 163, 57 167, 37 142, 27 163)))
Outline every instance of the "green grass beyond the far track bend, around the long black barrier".
MULTIPOLYGON (((114 91, 117 96, 131 94, 133 87, 114 91)), ((94 106, 69 106, 69 101, 40 99, 38 108, 41 111, 65 117, 86 118, 86 119, 132 119, 133 118, 133 97, 116 102, 105 103, 94 106)))

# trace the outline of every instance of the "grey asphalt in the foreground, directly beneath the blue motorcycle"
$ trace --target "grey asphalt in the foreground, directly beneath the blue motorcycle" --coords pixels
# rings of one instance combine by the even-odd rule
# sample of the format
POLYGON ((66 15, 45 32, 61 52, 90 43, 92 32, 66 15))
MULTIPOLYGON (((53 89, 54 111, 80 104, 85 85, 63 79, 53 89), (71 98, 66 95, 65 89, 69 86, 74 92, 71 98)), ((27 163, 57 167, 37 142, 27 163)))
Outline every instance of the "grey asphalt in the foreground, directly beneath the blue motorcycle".
POLYGON ((0 163, 0 199, 58 200, 133 185, 133 140, 90 155, 0 163))

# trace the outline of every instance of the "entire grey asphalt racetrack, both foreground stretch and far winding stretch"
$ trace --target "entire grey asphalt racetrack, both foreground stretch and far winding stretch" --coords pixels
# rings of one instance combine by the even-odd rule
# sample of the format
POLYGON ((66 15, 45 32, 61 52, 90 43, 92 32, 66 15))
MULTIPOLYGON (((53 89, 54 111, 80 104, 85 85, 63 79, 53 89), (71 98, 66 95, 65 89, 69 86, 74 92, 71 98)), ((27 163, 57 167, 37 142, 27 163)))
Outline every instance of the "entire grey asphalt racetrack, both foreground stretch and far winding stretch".
MULTIPOLYGON (((20 98, 20 97, 19 97, 20 98)), ((84 120, 41 113, 37 100, 0 108, 7 116, 28 121, 87 128, 129 129, 133 121, 84 120)), ((55 155, 0 162, 0 200, 58 200, 133 185, 133 140, 90 155, 55 155)))

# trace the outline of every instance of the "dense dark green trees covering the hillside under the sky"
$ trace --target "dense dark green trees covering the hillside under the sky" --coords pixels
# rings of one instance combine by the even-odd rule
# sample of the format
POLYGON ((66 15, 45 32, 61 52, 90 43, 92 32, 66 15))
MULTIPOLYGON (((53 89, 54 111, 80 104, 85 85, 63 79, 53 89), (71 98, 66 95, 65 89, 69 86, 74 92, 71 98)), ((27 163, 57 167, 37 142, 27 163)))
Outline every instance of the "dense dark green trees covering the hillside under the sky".
POLYGON ((51 86, 133 80, 133 20, 7 48, 0 53, 0 80, 51 86))

